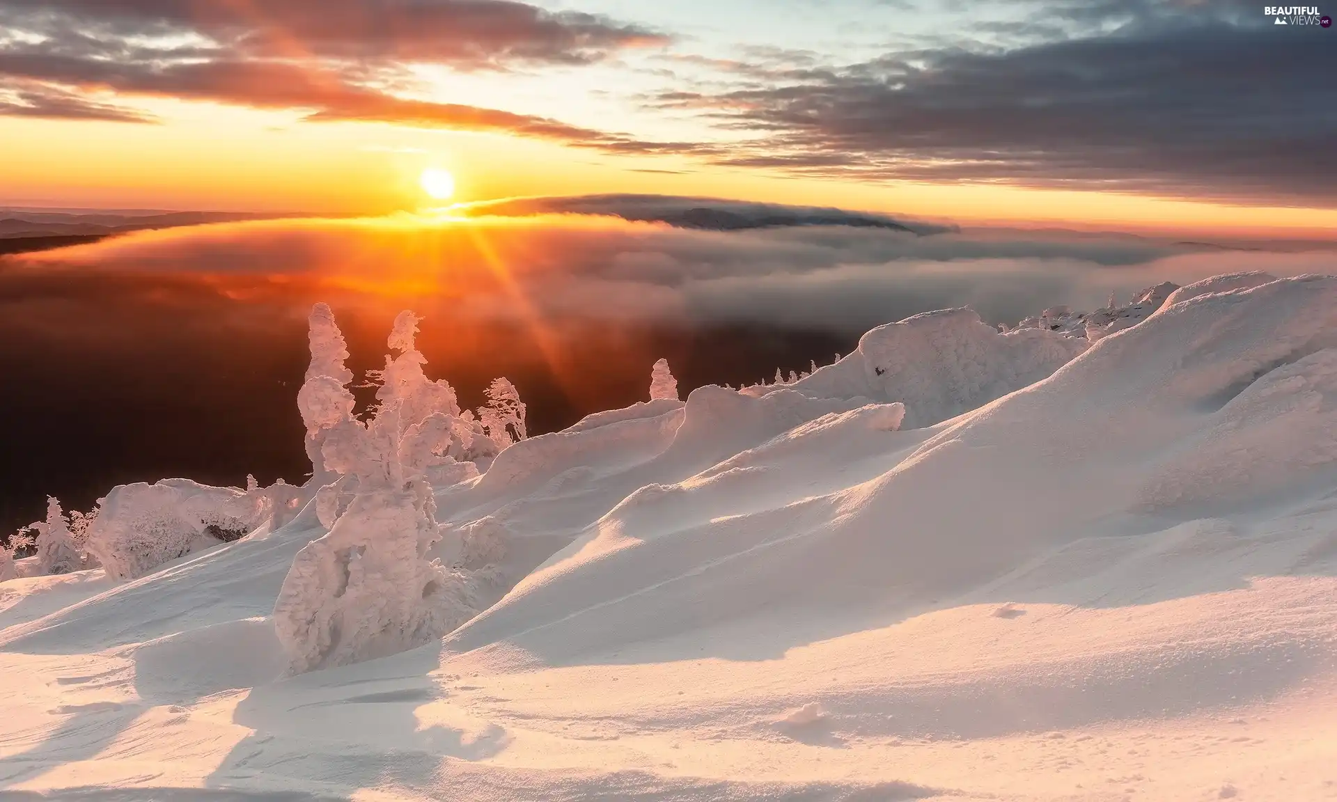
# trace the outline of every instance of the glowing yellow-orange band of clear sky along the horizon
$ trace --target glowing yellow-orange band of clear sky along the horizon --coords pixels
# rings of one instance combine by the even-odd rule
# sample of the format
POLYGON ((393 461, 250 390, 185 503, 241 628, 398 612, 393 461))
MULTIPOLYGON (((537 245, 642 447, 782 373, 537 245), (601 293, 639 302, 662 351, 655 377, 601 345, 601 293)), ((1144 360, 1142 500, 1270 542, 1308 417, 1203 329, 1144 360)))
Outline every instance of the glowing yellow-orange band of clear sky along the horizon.
POLYGON ((1337 238, 1337 210, 1203 203, 1005 184, 809 179, 683 156, 615 156, 505 134, 313 123, 298 112, 142 100, 160 124, 0 116, 0 205, 380 214, 457 200, 652 192, 838 206, 961 225, 1337 238))

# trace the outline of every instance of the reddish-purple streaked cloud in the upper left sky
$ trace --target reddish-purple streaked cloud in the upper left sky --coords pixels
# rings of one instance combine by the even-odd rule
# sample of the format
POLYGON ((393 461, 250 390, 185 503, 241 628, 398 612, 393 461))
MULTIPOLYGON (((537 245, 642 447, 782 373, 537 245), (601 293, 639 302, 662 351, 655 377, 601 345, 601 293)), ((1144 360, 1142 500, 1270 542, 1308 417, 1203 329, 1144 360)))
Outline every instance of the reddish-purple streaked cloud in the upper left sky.
POLYGON ((408 99, 405 64, 584 64, 663 40, 505 0, 0 0, 0 114, 148 120, 102 91, 631 150, 631 138, 545 118, 408 99))

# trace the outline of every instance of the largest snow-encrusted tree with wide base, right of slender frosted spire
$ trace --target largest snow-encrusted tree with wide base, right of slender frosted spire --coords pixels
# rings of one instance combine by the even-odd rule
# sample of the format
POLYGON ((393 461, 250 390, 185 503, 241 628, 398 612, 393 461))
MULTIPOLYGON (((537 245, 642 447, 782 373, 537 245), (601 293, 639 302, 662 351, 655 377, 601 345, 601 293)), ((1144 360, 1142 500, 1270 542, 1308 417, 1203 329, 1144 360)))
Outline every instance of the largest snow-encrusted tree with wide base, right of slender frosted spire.
POLYGON ((316 496, 329 532, 297 553, 274 604, 293 672, 413 648, 477 612, 469 577, 428 559, 445 535, 429 479, 461 473, 453 454, 480 438, 508 428, 523 437, 524 405, 511 382, 493 382, 485 432, 451 385, 422 372, 418 319, 412 311, 394 319, 386 342, 398 353, 369 374, 380 382, 372 413, 334 422, 321 445, 322 464, 344 476, 316 496))

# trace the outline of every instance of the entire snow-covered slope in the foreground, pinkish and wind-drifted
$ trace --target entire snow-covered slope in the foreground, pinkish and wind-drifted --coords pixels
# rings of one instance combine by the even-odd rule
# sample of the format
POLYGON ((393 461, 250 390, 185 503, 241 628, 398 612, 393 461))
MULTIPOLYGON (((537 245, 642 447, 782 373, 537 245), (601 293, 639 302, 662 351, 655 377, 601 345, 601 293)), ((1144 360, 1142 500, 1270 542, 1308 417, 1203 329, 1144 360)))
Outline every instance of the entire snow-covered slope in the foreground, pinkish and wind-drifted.
POLYGON ((435 493, 487 610, 382 659, 282 679, 313 511, 3 583, 0 791, 1337 798, 1337 278, 1161 301, 512 445, 435 493))

